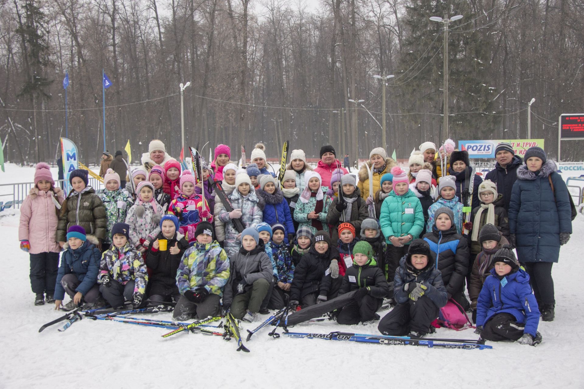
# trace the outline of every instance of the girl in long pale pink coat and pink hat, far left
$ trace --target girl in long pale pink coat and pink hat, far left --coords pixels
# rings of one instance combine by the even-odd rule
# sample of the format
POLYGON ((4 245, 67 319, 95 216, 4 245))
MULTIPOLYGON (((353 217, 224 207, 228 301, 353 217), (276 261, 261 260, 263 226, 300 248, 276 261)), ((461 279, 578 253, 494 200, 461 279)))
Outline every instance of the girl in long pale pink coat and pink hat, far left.
POLYGON ((49 166, 41 162, 34 172, 34 187, 20 206, 18 239, 20 249, 30 254, 30 286, 36 293, 34 305, 54 303, 55 282, 61 248, 55 239, 57 213, 64 201, 61 188, 55 181, 49 166))

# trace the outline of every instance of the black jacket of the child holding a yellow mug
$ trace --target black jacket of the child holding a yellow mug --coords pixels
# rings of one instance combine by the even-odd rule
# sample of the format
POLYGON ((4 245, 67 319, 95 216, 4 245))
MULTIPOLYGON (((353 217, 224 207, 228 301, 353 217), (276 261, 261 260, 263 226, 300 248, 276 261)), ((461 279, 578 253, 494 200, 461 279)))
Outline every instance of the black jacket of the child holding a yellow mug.
MULTIPOLYGON (((166 239, 162 232, 159 233, 156 239, 166 239)), ((180 233, 175 232, 175 236, 172 239, 168 239, 167 250, 152 250, 152 244, 155 240, 151 241, 150 247, 148 247, 148 254, 146 255, 146 266, 148 270, 151 271, 150 277, 148 278, 148 296, 150 295, 173 295, 179 292, 176 286, 176 271, 179 268, 180 260, 185 254, 187 248, 189 248, 189 242, 185 239, 185 236, 180 233), (171 254, 170 248, 175 246, 179 248, 180 252, 178 254, 171 254)))

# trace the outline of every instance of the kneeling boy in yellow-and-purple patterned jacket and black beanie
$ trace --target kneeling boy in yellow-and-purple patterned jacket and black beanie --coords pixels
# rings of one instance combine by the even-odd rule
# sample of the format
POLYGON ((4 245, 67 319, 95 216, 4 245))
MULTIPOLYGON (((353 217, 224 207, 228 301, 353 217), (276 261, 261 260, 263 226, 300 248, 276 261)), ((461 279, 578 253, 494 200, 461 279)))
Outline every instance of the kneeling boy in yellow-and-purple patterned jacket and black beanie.
POLYGON ((194 232, 196 242, 183 255, 176 272, 182 296, 172 314, 175 320, 202 319, 220 313, 219 300, 227 283, 230 261, 214 240, 211 223, 203 221, 194 232))

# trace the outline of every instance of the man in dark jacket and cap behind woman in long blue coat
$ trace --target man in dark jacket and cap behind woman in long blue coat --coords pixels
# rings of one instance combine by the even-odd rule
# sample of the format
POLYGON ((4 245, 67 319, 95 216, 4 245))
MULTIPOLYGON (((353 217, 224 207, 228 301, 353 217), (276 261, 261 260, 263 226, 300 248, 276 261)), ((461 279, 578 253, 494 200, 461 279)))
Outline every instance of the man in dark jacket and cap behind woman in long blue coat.
POLYGON ((497 184, 497 192, 503 195, 503 207, 509 211, 511 190, 517 180, 517 169, 523 164, 521 157, 515 155, 515 150, 507 142, 500 142, 495 148, 495 169, 486 173, 485 180, 497 184))

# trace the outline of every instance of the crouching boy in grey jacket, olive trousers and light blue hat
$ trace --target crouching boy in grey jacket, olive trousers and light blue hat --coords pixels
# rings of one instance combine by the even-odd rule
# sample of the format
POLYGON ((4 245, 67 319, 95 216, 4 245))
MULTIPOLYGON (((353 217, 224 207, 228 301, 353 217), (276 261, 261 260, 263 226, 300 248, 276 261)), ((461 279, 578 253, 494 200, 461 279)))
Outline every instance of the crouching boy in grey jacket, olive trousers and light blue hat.
POLYGON ((272 262, 260 244, 258 230, 241 233, 241 248, 230 258, 230 275, 223 292, 223 309, 245 321, 255 321, 274 278, 272 262))

